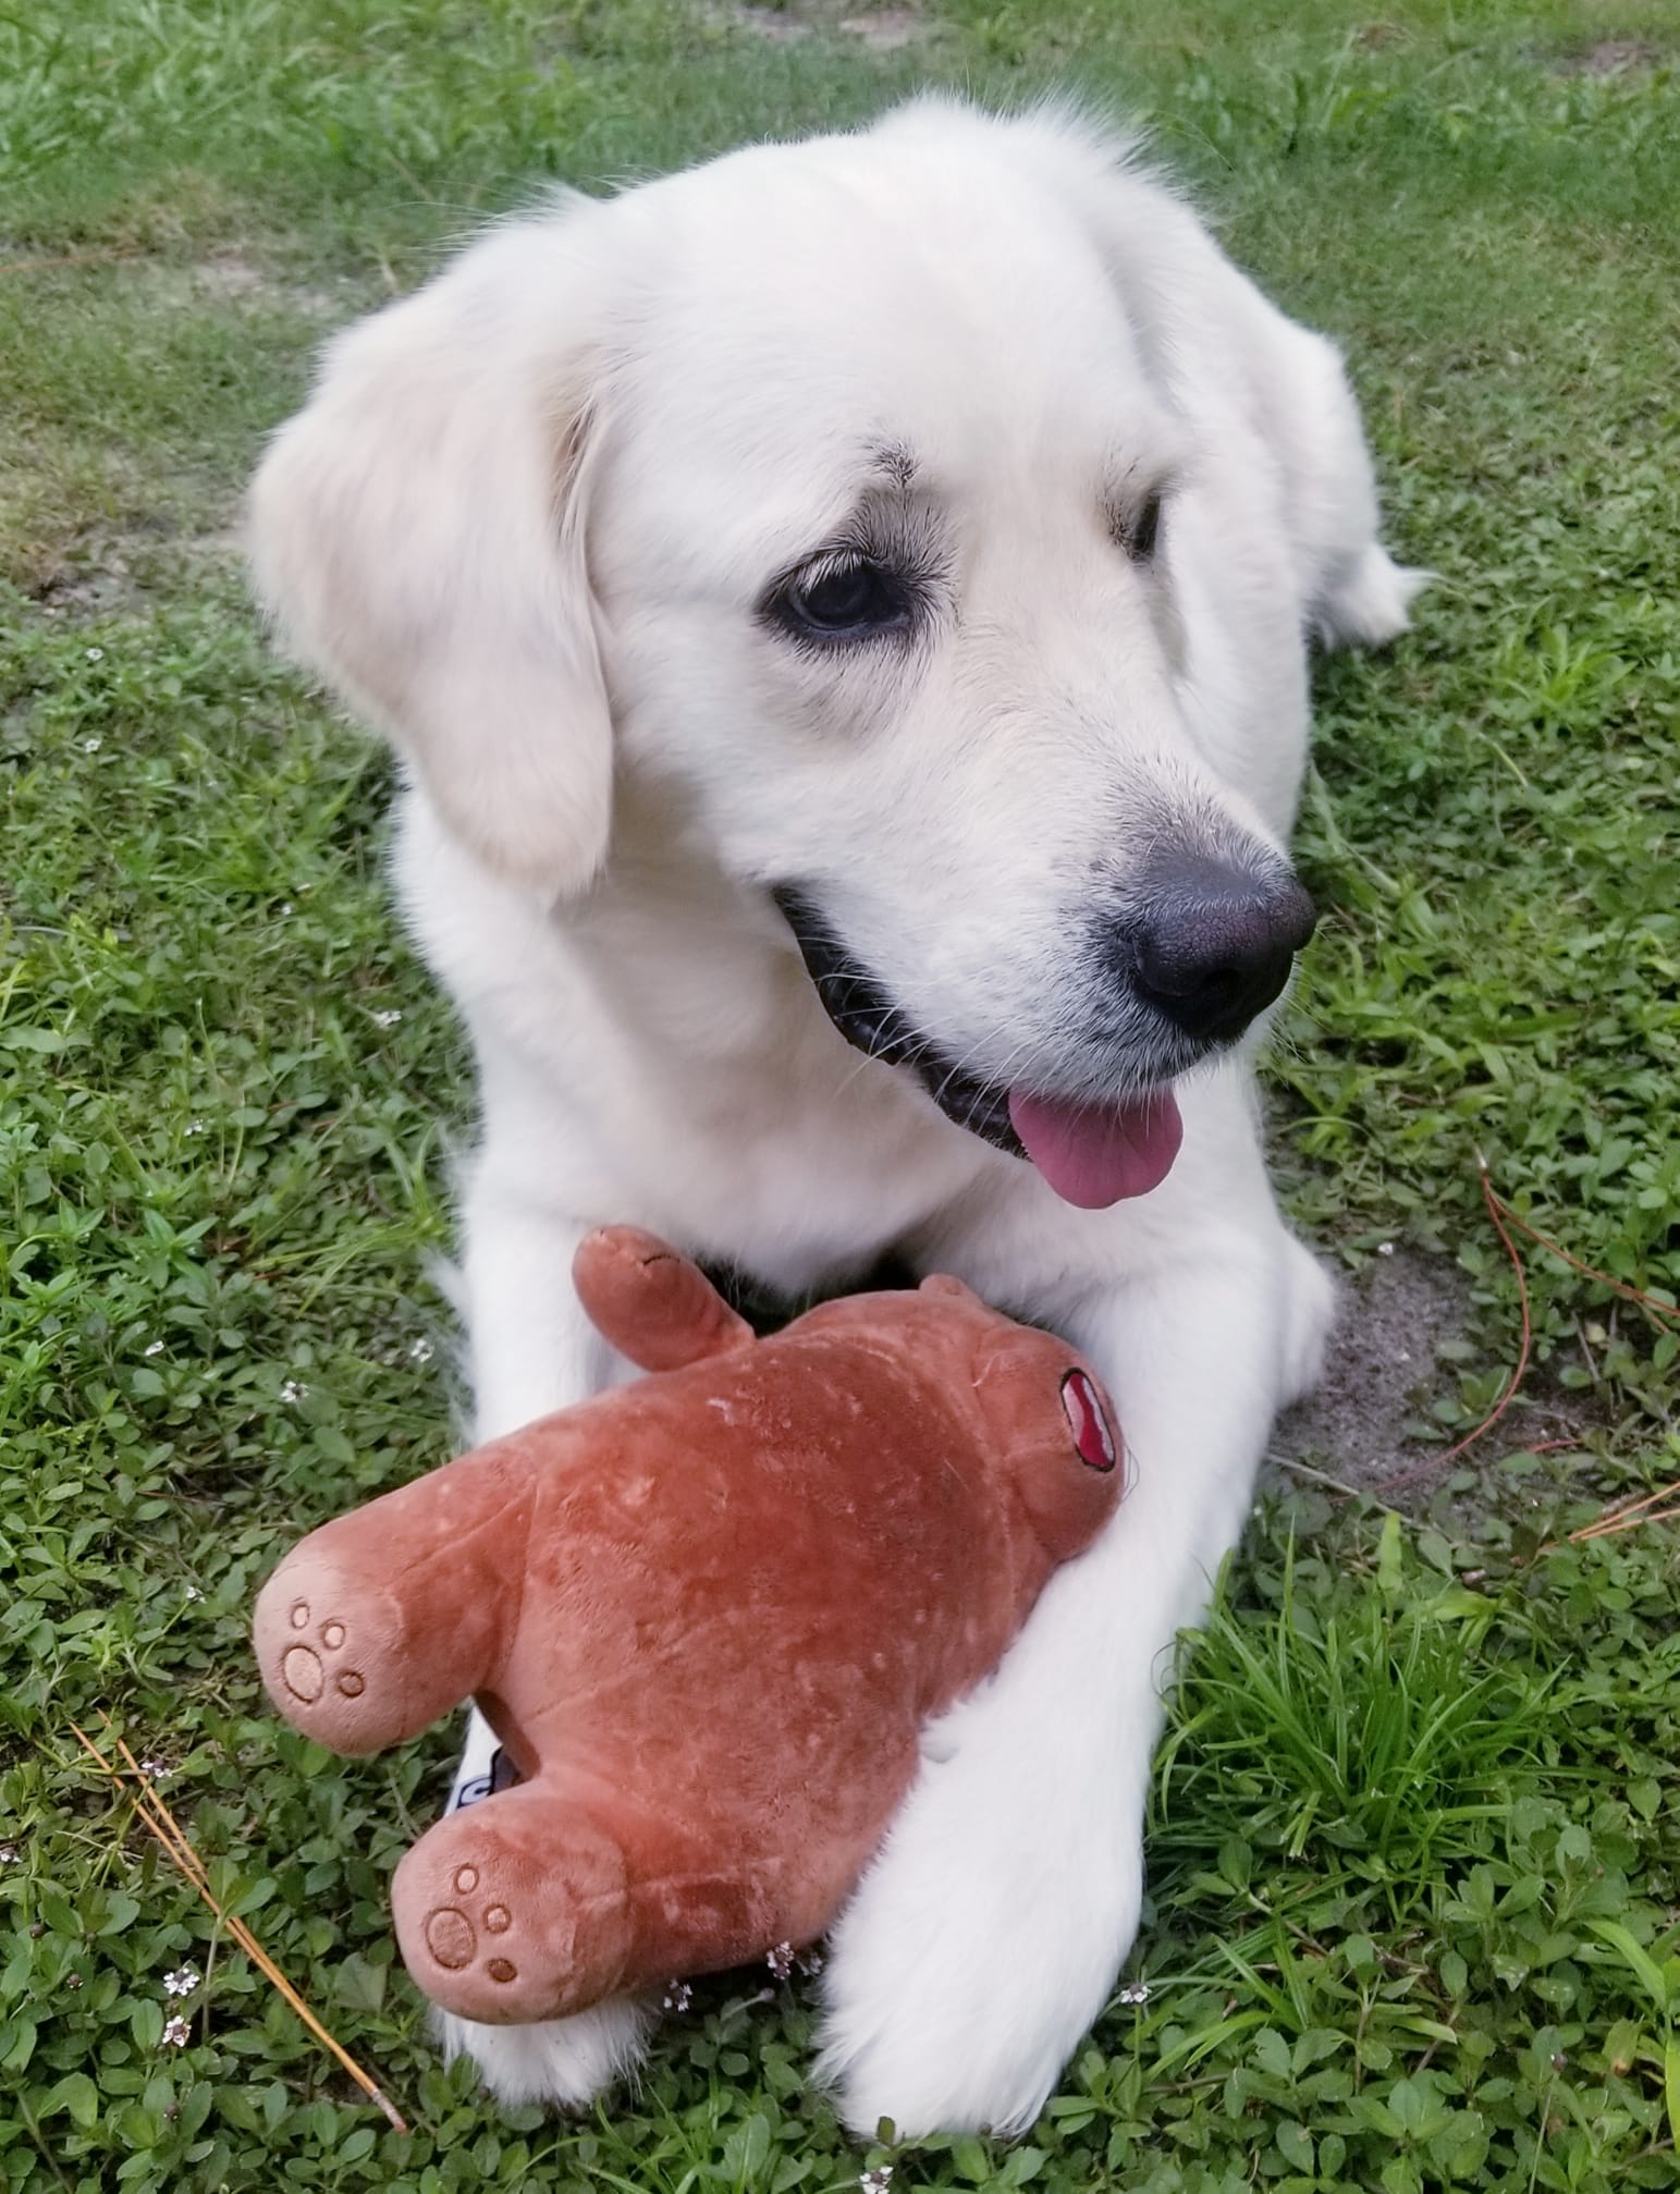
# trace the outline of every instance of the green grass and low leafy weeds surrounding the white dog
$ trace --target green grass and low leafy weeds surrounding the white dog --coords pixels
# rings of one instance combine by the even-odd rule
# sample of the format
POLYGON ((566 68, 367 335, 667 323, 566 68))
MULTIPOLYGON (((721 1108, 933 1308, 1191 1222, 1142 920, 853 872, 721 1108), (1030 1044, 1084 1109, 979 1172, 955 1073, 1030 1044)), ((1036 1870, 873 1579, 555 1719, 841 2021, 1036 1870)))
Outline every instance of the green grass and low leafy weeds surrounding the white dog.
POLYGON ((1272 1077, 1303 1224, 1463 1275, 1426 1457, 1516 1345, 1476 1147, 1592 1264, 1680 1283, 1665 53, 1641 0, 945 0, 901 53, 662 0, 0 18, 0 2187, 1673 2187, 1680 1562, 1673 1527, 1566 1534, 1680 1477, 1676 1343, 1540 1255, 1535 1380, 1586 1446, 1502 1452, 1518 1411, 1423 1512, 1263 1507, 1162 1751, 1147 1997, 1026 2144, 853 2148, 807 1983, 706 1983, 581 2124, 436 2067, 384 1893, 447 1733, 327 1760, 263 1711, 246 1624, 298 1531, 447 1452, 423 1275, 465 1055, 379 889, 386 766, 265 656, 228 546, 320 333, 550 176, 919 77, 1145 110, 1347 342, 1397 544, 1441 573, 1388 658, 1323 667, 1333 919, 1272 1077), (1564 66, 1612 37, 1656 59, 1564 66), (81 1762, 101 1705, 412 2135, 81 1762))

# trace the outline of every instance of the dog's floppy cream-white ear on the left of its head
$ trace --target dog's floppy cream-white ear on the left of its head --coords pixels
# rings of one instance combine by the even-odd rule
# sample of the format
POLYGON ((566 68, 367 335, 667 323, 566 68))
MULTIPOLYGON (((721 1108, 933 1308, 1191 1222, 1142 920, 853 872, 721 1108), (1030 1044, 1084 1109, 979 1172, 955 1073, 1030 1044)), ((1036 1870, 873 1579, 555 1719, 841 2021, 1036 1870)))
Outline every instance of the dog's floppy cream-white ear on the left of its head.
POLYGON ((257 584, 292 647, 474 853, 544 897, 590 882, 612 816, 583 555, 590 226, 511 224, 340 336, 250 502, 257 584))

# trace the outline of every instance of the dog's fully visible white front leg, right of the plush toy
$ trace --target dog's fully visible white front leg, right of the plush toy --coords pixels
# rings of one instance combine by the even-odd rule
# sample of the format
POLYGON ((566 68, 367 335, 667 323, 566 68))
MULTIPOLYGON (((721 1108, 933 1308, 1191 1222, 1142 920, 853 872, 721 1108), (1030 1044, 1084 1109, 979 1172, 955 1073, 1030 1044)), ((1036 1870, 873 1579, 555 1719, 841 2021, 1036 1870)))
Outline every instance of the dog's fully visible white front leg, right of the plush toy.
POLYGON ((860 2133, 1022 2130, 1103 2010, 1138 1924, 1173 1637, 1327 1323, 1325 1275, 1274 1220, 1062 1321, 1110 1384, 1136 1483, 991 1683, 930 1729, 840 1922, 822 2065, 860 2133))

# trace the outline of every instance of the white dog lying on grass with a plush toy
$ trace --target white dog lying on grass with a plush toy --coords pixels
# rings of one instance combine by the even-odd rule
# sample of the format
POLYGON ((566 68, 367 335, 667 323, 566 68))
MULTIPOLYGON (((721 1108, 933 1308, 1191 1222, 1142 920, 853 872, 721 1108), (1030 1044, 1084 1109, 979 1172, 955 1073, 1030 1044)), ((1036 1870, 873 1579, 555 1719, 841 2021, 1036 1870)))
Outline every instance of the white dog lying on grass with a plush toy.
MULTIPOLYGON (((601 1220, 787 1294, 893 1251, 1110 1380, 1136 1492, 930 1731, 827 1966, 851 2124, 1020 2128, 1329 1323, 1235 1047, 1312 926, 1307 636, 1415 584, 1340 360, 1125 140, 919 99, 496 228, 333 342, 254 559, 408 764, 480 1435, 623 1373, 568 1277, 601 1220)), ((649 2016, 452 2043, 577 2102, 649 2016)))

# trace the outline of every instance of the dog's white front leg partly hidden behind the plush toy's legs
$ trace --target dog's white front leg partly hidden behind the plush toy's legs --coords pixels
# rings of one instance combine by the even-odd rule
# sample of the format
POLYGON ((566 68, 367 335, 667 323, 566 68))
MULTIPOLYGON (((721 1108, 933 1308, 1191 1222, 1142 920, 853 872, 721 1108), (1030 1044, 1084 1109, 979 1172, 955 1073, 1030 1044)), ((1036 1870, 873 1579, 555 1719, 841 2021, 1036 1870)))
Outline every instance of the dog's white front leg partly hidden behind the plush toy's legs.
MULTIPOLYGON (((572 1257, 581 1220, 533 1209, 531 1172, 502 1183, 496 1145, 476 1165, 465 1202, 465 1314, 472 1345, 474 1435, 496 1439, 555 1409, 586 1402, 625 1367, 583 1314, 572 1257)), ((496 1757, 474 1711, 450 1810, 485 1797, 496 1757)), ((439 2012, 447 2054, 463 2051, 502 2102, 586 2104, 636 2062, 654 2008, 621 1997, 570 2018, 489 2027, 439 2012)))

